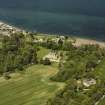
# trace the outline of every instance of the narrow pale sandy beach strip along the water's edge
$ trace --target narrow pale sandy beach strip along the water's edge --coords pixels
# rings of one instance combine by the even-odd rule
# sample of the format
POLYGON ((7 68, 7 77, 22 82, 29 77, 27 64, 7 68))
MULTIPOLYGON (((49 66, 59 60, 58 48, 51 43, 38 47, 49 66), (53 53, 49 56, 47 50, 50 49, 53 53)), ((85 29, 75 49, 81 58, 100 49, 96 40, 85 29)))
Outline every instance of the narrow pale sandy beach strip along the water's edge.
MULTIPOLYGON (((10 28, 15 29, 17 31, 25 31, 25 32, 27 31, 25 29, 15 27, 12 24, 8 24, 7 22, 3 22, 3 21, 0 20, 0 25, 1 24, 4 24, 6 27, 10 27, 10 28)), ((31 32, 31 31, 29 31, 29 32, 31 32)), ((38 32, 38 33, 41 34, 41 35, 45 35, 45 36, 47 36, 47 35, 65 36, 66 35, 66 34, 65 35, 62 35, 62 34, 59 35, 59 34, 50 34, 50 33, 42 33, 42 32, 38 32)), ((69 36, 69 35, 67 35, 67 36, 69 36)), ((81 45, 87 45, 87 44, 89 44, 89 45, 98 44, 100 47, 105 48, 105 42, 103 42, 103 41, 98 41, 98 40, 94 40, 94 39, 90 39, 90 38, 84 38, 84 37, 77 37, 77 36, 73 36, 73 35, 70 35, 69 37, 76 39, 76 42, 74 43, 74 45, 77 46, 77 47, 81 46, 81 45)))

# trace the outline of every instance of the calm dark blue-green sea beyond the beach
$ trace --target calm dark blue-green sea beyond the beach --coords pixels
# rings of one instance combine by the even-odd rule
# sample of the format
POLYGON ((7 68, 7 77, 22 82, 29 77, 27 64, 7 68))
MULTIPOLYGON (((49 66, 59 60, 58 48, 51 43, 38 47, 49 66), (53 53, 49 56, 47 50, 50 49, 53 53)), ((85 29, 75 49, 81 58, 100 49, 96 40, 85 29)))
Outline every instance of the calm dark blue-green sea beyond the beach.
POLYGON ((32 31, 105 40, 105 0, 0 0, 0 20, 32 31))

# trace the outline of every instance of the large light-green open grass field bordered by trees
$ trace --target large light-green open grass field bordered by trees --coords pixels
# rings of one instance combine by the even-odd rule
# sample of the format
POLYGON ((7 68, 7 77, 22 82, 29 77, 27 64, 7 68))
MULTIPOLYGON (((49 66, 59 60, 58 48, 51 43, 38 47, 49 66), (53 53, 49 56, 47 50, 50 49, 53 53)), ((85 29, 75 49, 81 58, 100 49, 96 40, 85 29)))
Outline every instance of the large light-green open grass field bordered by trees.
POLYGON ((51 82, 57 66, 34 65, 22 73, 0 78, 0 105, 44 105, 64 83, 51 82))

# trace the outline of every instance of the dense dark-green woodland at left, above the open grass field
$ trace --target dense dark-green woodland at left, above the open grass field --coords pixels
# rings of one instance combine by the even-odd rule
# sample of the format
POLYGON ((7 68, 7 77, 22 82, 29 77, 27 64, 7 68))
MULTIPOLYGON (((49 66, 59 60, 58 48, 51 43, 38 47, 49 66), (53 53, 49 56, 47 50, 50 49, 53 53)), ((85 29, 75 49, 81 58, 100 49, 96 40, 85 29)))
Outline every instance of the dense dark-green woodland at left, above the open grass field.
POLYGON ((11 37, 1 38, 0 48, 0 74, 24 70, 24 67, 37 63, 37 48, 26 41, 25 36, 13 34, 11 37))

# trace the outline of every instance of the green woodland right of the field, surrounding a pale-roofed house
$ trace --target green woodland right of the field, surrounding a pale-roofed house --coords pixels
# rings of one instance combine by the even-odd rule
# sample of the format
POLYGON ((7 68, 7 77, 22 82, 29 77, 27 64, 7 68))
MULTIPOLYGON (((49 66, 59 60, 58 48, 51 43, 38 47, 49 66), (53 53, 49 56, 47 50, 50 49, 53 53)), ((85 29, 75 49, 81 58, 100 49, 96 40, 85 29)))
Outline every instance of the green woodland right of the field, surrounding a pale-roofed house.
POLYGON ((46 105, 101 105, 105 96, 105 49, 98 45, 71 47, 53 81, 65 82, 46 105))

